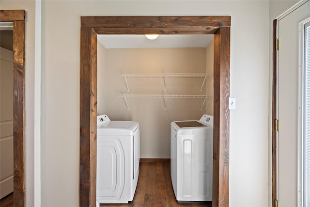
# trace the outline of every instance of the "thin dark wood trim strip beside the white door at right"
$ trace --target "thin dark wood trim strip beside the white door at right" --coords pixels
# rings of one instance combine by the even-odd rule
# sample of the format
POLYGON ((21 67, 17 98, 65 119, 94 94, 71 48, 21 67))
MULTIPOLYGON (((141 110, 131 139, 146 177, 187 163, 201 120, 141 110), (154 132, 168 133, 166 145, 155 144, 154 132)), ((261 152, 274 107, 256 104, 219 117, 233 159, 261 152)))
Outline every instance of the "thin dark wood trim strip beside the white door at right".
POLYGON ((276 140, 276 107, 277 107, 277 19, 273 20, 272 29, 272 206, 275 207, 277 193, 277 140, 276 140))

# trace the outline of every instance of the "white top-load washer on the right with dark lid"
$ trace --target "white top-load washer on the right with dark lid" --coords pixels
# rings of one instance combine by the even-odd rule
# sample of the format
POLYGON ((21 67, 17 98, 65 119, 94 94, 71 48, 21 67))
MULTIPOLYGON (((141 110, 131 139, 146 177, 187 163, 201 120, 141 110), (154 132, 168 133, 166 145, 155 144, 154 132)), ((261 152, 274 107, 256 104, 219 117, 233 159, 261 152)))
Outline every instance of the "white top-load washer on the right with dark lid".
POLYGON ((178 202, 212 201, 213 116, 171 122, 171 180, 178 202))

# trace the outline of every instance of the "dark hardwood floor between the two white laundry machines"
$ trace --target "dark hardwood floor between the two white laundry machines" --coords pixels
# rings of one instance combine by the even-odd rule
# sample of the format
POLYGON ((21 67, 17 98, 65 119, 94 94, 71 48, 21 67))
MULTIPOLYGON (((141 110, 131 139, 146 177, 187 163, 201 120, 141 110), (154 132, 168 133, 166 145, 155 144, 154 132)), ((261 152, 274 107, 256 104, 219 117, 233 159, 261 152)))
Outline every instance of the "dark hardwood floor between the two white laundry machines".
POLYGON ((100 207, 211 207, 211 204, 179 204, 174 196, 168 162, 140 162, 137 190, 130 204, 100 207))

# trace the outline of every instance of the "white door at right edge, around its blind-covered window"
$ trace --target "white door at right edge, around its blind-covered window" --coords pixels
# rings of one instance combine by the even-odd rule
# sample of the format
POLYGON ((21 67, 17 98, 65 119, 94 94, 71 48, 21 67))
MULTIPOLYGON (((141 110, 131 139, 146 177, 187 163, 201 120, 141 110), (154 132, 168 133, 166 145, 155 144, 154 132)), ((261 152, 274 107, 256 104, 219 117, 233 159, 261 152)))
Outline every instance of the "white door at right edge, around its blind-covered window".
POLYGON ((299 32, 298 25, 310 16, 310 1, 279 16, 278 91, 279 119, 277 200, 279 207, 298 205, 298 113, 299 32))

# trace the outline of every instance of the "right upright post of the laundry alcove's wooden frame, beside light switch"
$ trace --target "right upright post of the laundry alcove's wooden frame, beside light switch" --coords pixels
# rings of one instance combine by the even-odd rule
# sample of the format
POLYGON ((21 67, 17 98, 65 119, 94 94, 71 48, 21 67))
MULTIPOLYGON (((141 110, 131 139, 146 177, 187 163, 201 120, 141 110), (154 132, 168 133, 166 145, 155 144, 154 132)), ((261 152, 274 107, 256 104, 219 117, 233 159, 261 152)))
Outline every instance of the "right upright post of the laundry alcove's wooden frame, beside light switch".
POLYGON ((226 207, 229 201, 229 109, 230 28, 214 35, 214 126, 212 206, 226 207), (217 203, 218 202, 218 203, 217 203))

